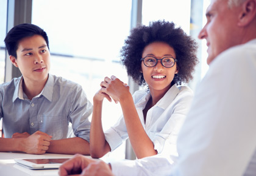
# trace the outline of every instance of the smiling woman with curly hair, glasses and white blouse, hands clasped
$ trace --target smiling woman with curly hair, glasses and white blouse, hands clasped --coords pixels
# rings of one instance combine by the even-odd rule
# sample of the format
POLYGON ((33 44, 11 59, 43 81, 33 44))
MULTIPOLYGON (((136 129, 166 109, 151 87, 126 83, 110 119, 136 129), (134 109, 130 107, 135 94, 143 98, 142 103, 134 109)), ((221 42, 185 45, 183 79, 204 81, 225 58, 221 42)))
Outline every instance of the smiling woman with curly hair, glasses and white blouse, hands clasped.
POLYGON ((193 98, 182 83, 193 79, 197 44, 173 22, 155 21, 134 28, 121 49, 121 63, 140 86, 131 95, 129 86, 115 76, 105 77, 93 98, 90 131, 91 157, 113 151, 128 137, 137 158, 176 149, 176 137, 193 98), (123 115, 103 132, 102 101, 121 104, 123 115), (168 146, 168 147, 165 147, 168 146), (167 149, 167 150, 166 150, 167 149))

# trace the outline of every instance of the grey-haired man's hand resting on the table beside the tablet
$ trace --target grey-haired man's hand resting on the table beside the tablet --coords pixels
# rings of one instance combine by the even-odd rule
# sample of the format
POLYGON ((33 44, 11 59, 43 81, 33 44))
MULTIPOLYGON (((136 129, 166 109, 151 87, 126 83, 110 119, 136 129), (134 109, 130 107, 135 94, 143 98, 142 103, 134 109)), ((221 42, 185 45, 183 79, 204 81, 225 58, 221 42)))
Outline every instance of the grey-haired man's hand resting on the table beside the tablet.
POLYGON ((104 161, 86 158, 83 155, 76 154, 73 158, 66 161, 59 168, 59 175, 109 175, 113 176, 110 167, 104 161))

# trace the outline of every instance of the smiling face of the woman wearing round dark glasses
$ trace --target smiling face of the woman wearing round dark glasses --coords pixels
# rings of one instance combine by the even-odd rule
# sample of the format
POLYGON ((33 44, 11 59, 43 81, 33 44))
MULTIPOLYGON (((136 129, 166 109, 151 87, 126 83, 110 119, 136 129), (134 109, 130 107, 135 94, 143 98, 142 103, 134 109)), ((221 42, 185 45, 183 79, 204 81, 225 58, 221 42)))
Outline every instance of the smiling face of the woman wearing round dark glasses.
MULTIPOLYGON (((171 56, 176 59, 174 49, 165 42, 152 42, 146 46, 143 50, 142 58, 146 56, 154 56, 157 59, 171 56)), ((167 92, 171 87, 174 75, 177 73, 177 64, 175 63, 173 67, 166 68, 158 60, 154 67, 147 67, 141 61, 141 71, 151 92, 155 90, 167 92)))

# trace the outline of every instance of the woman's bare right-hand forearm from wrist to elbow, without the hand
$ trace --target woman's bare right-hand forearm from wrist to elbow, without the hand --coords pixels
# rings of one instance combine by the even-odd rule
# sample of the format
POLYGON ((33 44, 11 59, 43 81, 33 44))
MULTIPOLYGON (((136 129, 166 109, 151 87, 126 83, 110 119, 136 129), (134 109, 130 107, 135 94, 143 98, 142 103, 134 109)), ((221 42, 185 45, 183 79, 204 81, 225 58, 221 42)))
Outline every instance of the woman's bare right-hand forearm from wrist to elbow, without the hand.
POLYGON ((121 100, 120 104, 123 110, 129 140, 137 158, 156 155, 157 151, 154 149, 154 143, 152 143, 141 124, 132 96, 121 100))

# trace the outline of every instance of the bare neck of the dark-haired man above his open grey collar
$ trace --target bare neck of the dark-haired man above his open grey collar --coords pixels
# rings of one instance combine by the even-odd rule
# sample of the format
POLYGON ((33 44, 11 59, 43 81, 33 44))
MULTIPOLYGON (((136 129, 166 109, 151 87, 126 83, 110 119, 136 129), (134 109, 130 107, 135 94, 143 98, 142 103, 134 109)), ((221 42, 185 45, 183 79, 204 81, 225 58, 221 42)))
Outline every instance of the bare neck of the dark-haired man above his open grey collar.
POLYGON ((32 100, 32 98, 41 93, 47 80, 48 77, 43 81, 30 81, 26 78, 23 78, 23 92, 26 93, 27 98, 32 100))

